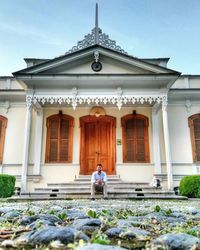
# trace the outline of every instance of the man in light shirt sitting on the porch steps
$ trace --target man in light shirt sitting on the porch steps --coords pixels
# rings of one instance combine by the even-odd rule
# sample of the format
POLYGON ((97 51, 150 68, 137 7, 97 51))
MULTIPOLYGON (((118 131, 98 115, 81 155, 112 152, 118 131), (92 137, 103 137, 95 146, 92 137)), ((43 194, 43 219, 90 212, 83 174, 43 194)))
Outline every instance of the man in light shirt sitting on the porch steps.
POLYGON ((102 171, 103 167, 97 164, 97 171, 93 172, 91 178, 91 199, 94 200, 95 191, 103 191, 104 199, 107 199, 107 175, 102 171))

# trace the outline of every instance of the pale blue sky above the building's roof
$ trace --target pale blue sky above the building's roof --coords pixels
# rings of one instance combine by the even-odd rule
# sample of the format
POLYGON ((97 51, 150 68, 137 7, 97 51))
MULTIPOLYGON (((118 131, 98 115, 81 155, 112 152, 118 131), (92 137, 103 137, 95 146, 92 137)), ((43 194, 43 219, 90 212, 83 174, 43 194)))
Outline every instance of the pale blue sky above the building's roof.
POLYGON ((0 76, 71 49, 94 27, 96 2, 100 28, 129 55, 200 74, 200 0, 0 0, 0 76))

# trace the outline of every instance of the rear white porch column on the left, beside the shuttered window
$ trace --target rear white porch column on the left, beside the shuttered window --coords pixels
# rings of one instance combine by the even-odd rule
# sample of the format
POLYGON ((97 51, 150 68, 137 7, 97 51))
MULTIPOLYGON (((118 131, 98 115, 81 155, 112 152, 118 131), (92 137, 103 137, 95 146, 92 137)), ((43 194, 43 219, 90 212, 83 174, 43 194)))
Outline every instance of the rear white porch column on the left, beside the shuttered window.
POLYGON ((43 110, 37 111, 36 127, 35 127, 35 154, 34 154, 34 170, 35 175, 41 173, 41 155, 42 155, 42 131, 43 131, 43 110))

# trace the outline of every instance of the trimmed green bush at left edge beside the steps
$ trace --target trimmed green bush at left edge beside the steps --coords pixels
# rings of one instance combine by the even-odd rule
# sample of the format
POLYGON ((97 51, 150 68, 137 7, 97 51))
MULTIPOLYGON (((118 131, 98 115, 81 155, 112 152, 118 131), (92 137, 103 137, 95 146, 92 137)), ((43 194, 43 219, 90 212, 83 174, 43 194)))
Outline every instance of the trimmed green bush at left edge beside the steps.
POLYGON ((0 174, 0 197, 10 197, 15 190, 15 176, 8 174, 0 174))

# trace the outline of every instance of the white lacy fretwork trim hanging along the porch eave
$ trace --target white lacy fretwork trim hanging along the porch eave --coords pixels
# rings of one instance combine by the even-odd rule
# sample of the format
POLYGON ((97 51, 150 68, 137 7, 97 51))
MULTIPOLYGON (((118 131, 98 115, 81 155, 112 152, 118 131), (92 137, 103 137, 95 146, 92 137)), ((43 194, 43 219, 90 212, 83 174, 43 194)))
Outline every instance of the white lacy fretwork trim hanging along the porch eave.
POLYGON ((153 103, 167 103, 167 95, 34 95, 27 96, 27 106, 31 104, 41 103, 44 104, 66 104, 71 105, 73 109, 76 109, 77 105, 81 104, 94 104, 94 105, 117 105, 119 109, 124 104, 153 104, 153 103))

